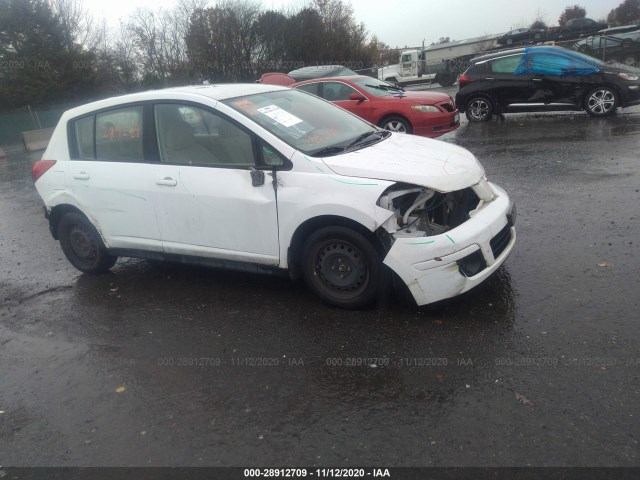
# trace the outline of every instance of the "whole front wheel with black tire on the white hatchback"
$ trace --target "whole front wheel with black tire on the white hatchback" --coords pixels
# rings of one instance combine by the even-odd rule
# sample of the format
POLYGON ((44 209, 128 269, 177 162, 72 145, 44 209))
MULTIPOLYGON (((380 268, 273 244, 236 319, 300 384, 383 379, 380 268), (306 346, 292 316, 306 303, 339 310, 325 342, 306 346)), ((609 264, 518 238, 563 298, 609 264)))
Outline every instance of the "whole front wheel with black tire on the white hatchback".
POLYGON ((383 285, 380 256, 367 238, 346 227, 324 227, 309 236, 302 251, 305 281, 325 302, 363 308, 383 285))

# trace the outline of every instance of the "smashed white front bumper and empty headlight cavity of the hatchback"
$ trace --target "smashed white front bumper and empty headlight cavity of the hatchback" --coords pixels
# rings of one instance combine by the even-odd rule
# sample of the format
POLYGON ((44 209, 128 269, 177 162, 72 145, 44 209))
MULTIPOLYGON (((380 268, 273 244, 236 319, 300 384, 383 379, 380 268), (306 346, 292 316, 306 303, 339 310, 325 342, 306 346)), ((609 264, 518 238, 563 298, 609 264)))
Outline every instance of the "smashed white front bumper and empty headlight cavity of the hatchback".
POLYGON ((418 305, 473 288, 504 262, 515 242, 515 209, 485 177, 452 192, 396 183, 378 206, 393 212, 378 230, 388 250, 384 263, 418 305))

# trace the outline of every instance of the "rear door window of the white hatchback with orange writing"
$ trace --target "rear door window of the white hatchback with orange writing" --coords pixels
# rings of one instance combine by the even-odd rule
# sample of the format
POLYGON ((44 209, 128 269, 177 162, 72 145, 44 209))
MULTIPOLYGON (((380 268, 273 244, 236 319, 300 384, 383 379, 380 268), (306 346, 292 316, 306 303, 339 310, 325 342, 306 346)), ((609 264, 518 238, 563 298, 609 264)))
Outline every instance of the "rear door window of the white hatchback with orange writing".
POLYGON ((144 160, 142 106, 100 112, 75 120, 72 124, 76 158, 104 161, 144 160))

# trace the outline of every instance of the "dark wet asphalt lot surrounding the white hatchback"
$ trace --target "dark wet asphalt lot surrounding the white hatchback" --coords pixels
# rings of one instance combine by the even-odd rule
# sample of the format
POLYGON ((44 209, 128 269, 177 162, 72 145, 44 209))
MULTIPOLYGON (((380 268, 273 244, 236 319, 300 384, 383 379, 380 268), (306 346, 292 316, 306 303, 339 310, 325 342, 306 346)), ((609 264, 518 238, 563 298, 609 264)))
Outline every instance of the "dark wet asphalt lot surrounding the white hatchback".
POLYGON ((640 107, 444 140, 518 205, 499 272, 417 308, 120 260, 81 275, 0 159, 4 466, 640 466, 640 107), (373 366, 372 366, 373 365, 373 366))

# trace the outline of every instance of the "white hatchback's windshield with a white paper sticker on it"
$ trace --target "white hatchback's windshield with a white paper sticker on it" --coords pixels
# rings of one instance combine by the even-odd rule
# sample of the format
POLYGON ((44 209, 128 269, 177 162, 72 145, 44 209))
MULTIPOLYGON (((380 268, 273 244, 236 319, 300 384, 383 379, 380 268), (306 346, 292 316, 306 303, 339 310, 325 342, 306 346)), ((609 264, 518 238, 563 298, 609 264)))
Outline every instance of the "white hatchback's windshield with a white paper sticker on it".
POLYGON ((355 115, 298 90, 247 95, 224 103, 309 155, 341 153, 354 146, 355 140, 378 131, 355 115))

